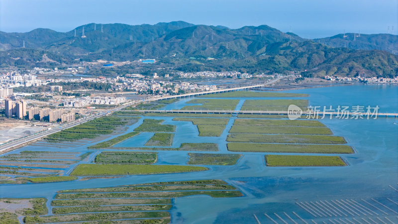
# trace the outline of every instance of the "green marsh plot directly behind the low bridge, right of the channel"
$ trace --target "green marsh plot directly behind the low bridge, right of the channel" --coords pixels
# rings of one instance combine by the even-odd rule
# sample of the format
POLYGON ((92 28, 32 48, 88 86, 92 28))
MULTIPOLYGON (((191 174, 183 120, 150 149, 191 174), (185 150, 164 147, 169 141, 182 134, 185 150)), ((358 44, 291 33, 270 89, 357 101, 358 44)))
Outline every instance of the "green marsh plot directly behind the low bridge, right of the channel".
POLYGON ((242 111, 288 111, 289 105, 296 105, 306 111, 307 100, 246 100, 242 111))

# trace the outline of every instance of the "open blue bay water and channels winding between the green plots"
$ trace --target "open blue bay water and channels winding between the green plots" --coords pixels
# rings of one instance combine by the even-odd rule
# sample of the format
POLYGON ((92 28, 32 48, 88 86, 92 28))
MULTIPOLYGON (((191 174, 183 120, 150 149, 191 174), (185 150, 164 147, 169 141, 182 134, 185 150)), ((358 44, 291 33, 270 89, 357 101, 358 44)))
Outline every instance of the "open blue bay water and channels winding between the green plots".
MULTIPOLYGON (((387 85, 335 86, 286 91, 306 93, 309 105, 329 106, 376 106, 379 112, 398 112, 398 87, 387 85)), ((275 99, 275 98, 241 98, 275 99)), ((181 109, 189 99, 166 106, 166 109, 181 109)), ((241 106, 240 102, 239 105, 241 106)), ((237 108, 238 109, 238 108, 237 108)), ((220 137, 200 137, 191 122, 173 121, 173 117, 145 117, 164 119, 164 124, 176 125, 173 145, 179 147, 185 142, 212 142, 219 145, 222 153, 226 150, 226 136, 236 117, 231 117, 220 137)), ((141 118, 126 132, 142 123, 141 118)), ((245 152, 234 166, 206 166, 208 171, 135 175, 114 179, 93 179, 44 184, 0 185, 0 197, 46 197, 52 200, 55 192, 65 189, 108 187, 124 184, 150 183, 159 181, 222 179, 237 187, 244 194, 239 198, 211 198, 191 196, 175 199, 171 211, 172 223, 255 223, 253 214, 261 223, 270 221, 263 215, 292 214, 296 212, 303 219, 311 216, 298 207, 296 202, 340 199, 397 198, 397 192, 389 185, 398 183, 398 123, 397 119, 322 119, 334 135, 344 136, 347 144, 356 153, 342 155, 349 166, 345 167, 266 167, 264 155, 277 153, 245 152), (396 195, 394 195, 396 194, 396 195)), ((152 133, 141 133, 115 145, 116 147, 142 147, 152 133)), ((109 138, 113 138, 111 136, 109 138)), ((105 139, 106 140, 106 139, 105 139)), ((25 146, 12 151, 55 150, 55 151, 99 151, 88 150, 90 141, 82 146, 70 148, 25 146)), ((103 150, 107 151, 107 150, 103 150)), ((186 165, 188 153, 194 151, 159 151, 156 164, 186 165)), ((216 152, 209 152, 216 153, 216 152)), ((236 152, 233 152, 236 153, 236 152)), ((297 154, 297 153, 290 153, 297 154)), ((91 156, 93 158, 93 156, 91 156)), ((396 200, 397 201, 397 200, 396 200)), ((49 203, 47 204, 49 206, 49 203)))

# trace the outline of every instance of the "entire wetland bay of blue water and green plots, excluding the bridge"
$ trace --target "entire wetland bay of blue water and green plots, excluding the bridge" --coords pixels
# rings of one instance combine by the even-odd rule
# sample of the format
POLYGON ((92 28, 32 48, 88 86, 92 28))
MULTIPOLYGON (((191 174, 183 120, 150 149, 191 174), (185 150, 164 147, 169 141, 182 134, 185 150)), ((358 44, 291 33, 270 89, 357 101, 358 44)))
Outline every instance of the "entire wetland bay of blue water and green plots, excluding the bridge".
MULTIPOLYGON (((259 93, 154 107, 253 110, 296 102, 398 112, 397 86, 259 93)), ((26 223, 398 223, 397 118, 113 116, 108 123, 117 127, 92 122, 112 133, 73 141, 62 134, 61 141, 53 136, 1 155, 0 197, 24 198, 20 206, 32 210, 27 199, 43 198, 48 212, 15 217, 0 211, 0 217, 26 223)))

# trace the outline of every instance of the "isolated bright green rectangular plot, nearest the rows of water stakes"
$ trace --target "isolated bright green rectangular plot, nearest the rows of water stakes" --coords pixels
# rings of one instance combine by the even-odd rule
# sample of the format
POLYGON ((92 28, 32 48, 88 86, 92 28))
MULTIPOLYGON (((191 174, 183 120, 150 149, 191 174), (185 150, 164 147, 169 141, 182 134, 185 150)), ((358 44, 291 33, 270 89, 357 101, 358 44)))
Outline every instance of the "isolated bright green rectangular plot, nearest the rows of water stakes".
POLYGON ((266 155, 267 166, 346 166, 340 156, 266 155))

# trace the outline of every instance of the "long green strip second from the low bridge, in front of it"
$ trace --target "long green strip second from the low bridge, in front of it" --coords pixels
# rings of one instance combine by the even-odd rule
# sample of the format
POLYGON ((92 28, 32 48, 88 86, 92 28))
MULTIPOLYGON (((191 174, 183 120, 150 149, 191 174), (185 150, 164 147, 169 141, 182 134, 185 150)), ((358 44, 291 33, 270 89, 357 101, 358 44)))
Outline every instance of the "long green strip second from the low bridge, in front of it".
POLYGON ((327 127, 286 127, 233 125, 229 133, 258 134, 333 134, 327 127))

